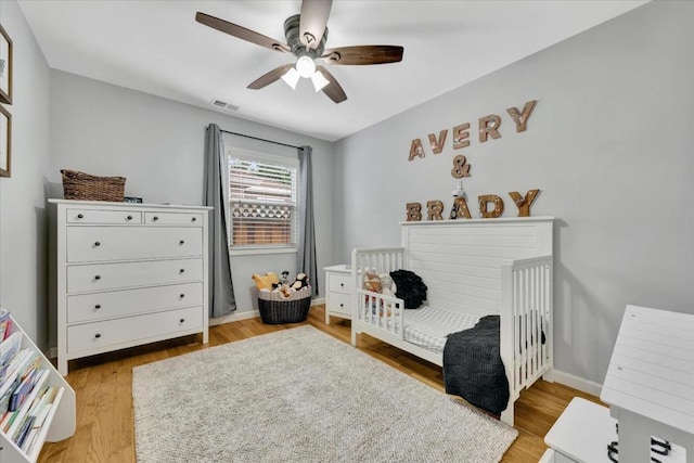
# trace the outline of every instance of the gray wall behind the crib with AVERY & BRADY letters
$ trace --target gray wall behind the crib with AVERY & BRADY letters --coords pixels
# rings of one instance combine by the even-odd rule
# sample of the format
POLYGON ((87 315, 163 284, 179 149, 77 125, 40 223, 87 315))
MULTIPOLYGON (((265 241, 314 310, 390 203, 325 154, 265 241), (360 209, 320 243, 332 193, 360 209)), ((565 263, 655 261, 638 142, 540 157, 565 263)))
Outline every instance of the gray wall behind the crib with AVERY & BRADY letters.
MULTIPOLYGON (((408 202, 441 200, 467 156, 476 197, 541 190, 554 216, 555 366, 602 383, 627 304, 694 312, 694 4, 653 2, 343 139, 336 146, 335 253, 397 245, 408 202), (538 104, 526 132, 506 108, 538 104), (502 117, 480 143, 477 118, 502 117), (471 123, 471 146, 452 127, 471 123), (408 162, 412 139, 448 129, 445 151, 408 162)), ((423 85, 426 85, 423 82, 423 85)), ((403 95, 407 98, 407 95, 403 95)), ((448 210, 447 210, 448 213, 448 210)))

